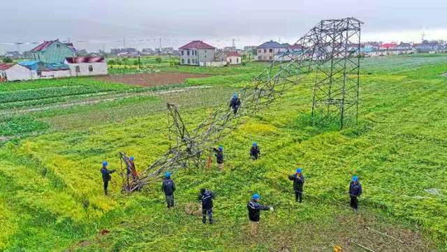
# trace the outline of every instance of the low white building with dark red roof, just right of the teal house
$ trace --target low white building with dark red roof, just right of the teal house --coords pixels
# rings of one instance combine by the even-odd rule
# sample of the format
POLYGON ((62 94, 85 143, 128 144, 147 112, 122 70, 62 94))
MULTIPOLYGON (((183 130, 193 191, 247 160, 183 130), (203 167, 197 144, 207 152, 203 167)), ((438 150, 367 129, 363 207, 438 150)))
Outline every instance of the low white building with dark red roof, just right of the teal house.
POLYGON ((104 57, 68 57, 65 64, 71 76, 107 75, 107 62, 104 57))

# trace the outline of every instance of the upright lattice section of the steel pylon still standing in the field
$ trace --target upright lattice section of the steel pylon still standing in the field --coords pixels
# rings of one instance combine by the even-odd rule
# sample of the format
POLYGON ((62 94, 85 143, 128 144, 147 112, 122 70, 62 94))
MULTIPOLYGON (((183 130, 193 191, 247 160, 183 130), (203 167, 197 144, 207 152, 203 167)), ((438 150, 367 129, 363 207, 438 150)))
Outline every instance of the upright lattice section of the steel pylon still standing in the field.
POLYGON ((323 20, 312 31, 318 36, 314 64, 312 121, 338 121, 343 128, 358 119, 360 89, 360 25, 355 18, 323 20))

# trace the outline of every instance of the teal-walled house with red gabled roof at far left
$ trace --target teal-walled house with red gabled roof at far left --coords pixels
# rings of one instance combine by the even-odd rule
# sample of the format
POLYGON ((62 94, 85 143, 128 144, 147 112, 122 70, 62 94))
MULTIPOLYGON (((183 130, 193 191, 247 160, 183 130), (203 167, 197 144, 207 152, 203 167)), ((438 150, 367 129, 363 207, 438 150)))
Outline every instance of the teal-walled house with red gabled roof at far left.
POLYGON ((41 61, 45 64, 59 64, 63 63, 66 57, 75 56, 76 50, 73 43, 50 40, 44 41, 30 52, 32 59, 35 61, 41 61))

